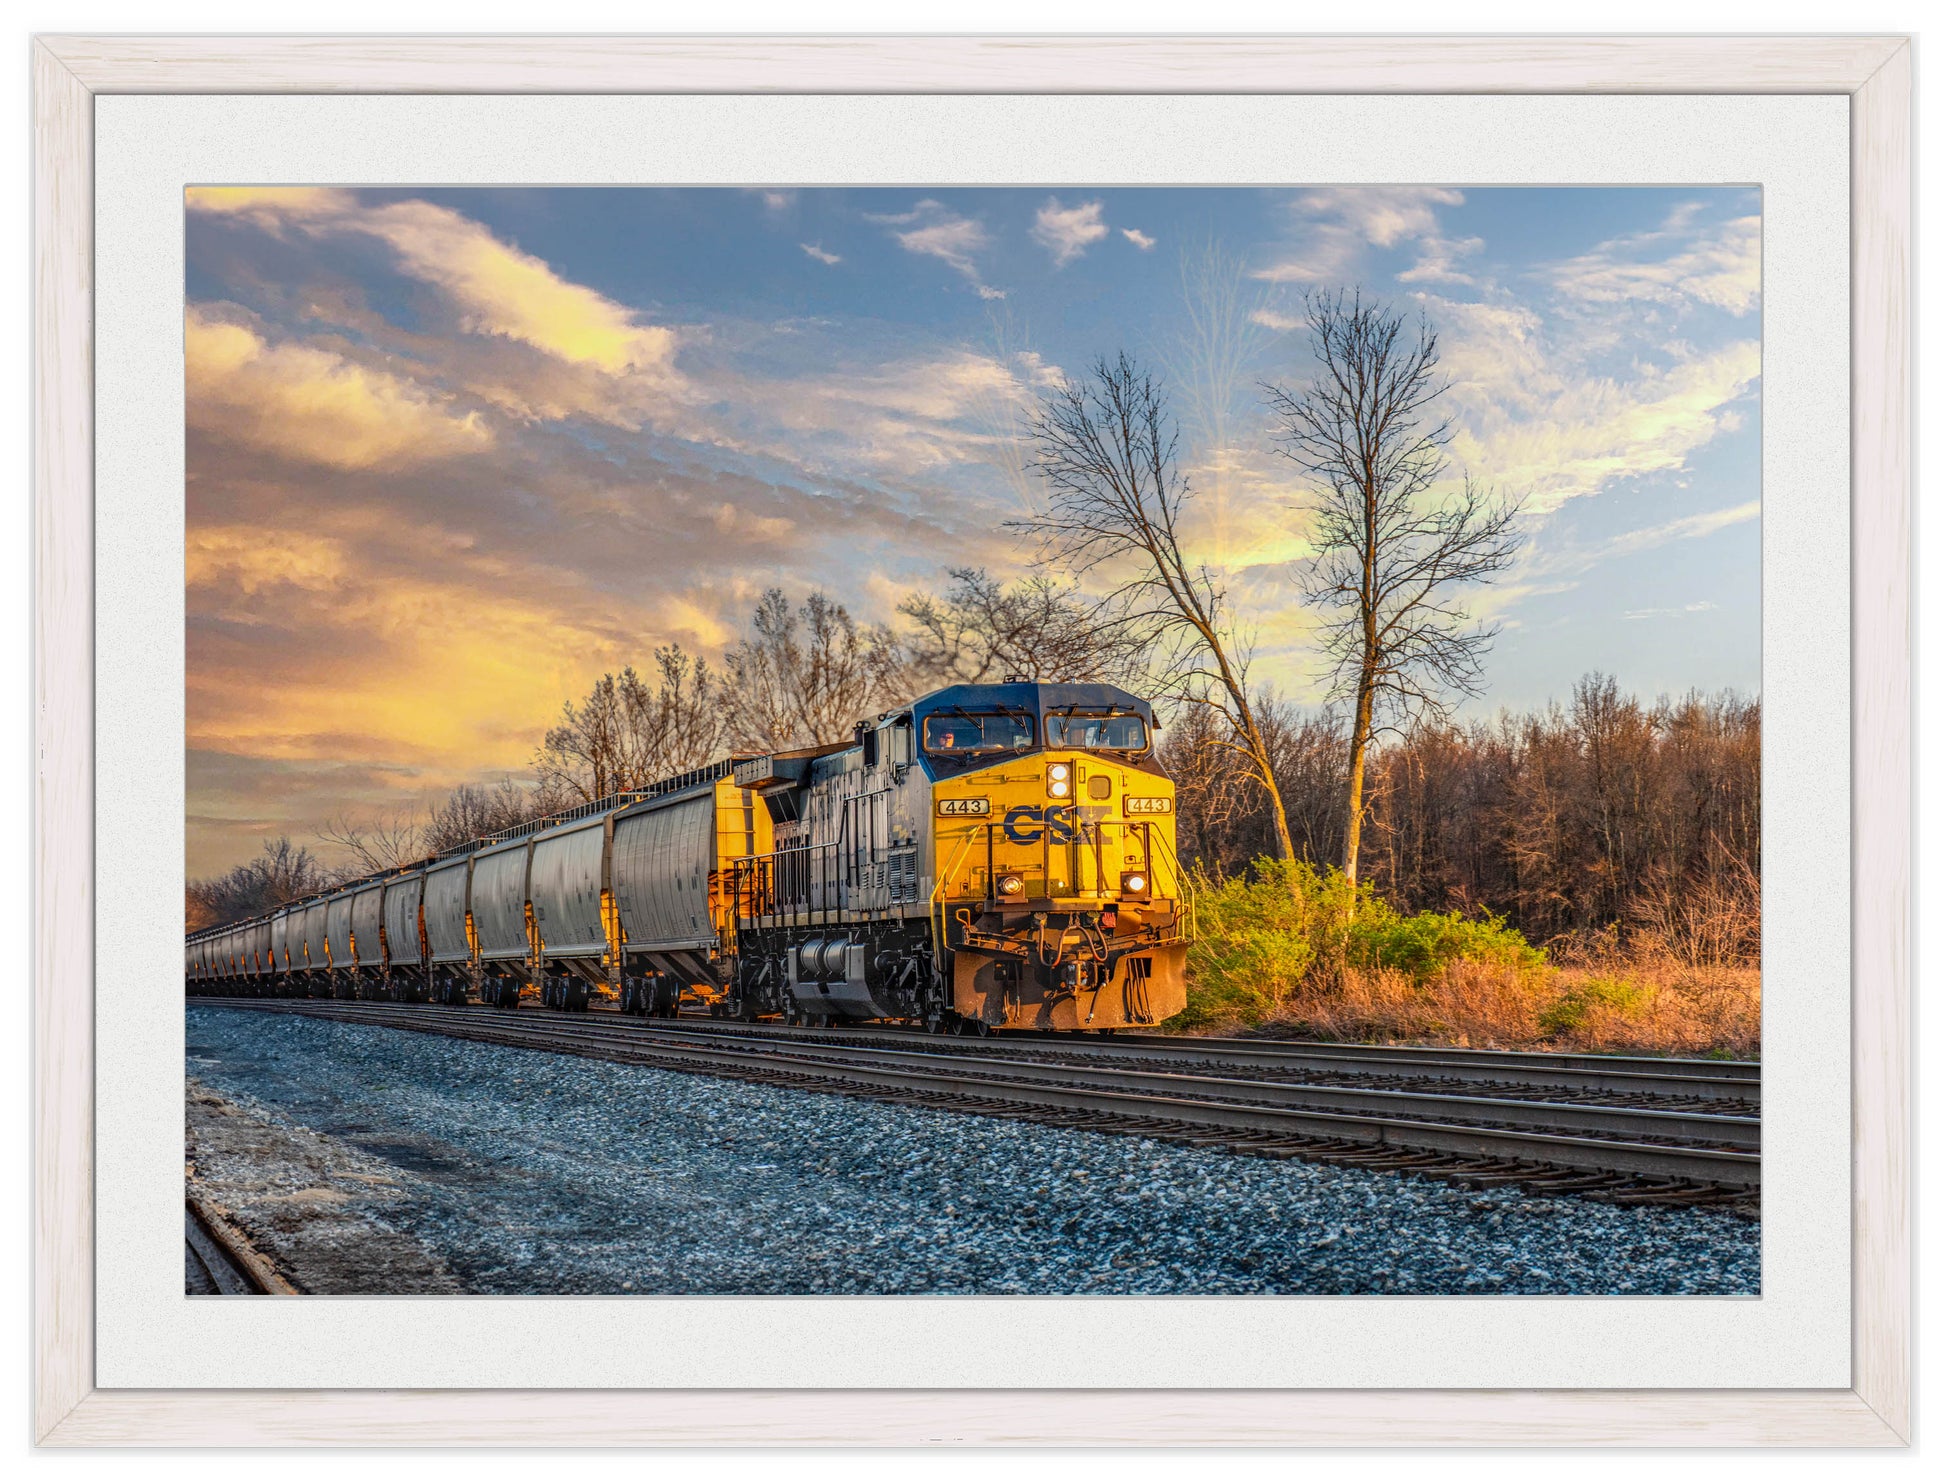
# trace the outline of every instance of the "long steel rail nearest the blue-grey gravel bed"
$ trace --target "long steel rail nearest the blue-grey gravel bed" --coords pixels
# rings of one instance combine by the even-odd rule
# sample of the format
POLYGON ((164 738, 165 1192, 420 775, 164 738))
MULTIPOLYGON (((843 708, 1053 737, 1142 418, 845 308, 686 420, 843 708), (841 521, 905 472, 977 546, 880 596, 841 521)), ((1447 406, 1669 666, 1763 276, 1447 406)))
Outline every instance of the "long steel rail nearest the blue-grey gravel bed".
MULTIPOLYGON (((356 1000, 230 1000, 230 1008, 255 1008, 284 1014, 304 1014, 356 1024, 370 1024, 424 1033, 444 1033, 520 1049, 541 1049, 566 1055, 631 1065, 656 1065, 701 1074, 755 1076, 784 1084, 804 1084, 813 1090, 848 1090, 926 1094, 965 1100, 969 1109, 994 1107, 1061 1109, 1072 1113, 1105 1113, 1135 1127, 1142 1123, 1245 1137, 1314 1139, 1366 1146, 1374 1150, 1423 1150, 1444 1156, 1485 1160, 1526 1160, 1568 1170, 1598 1170, 1629 1177, 1679 1179, 1703 1185, 1755 1189, 1759 1183, 1759 1154, 1749 1148, 1699 1144, 1640 1142, 1629 1137, 1586 1137, 1568 1127, 1495 1127, 1491 1123, 1454 1121, 1452 1113, 1465 1098, 1448 1098, 1446 1115, 1411 1115, 1397 1103, 1380 1107, 1296 1107, 1263 1102, 1214 1100, 1205 1088, 1185 1088, 1191 1078, 1170 1078, 1170 1088, 1131 1092, 1111 1086, 1074 1086, 1059 1080, 1024 1076, 1026 1063, 1000 1063, 998 1070, 967 1074, 957 1070, 959 1057, 901 1057, 901 1065, 885 1065, 866 1055, 808 1057, 800 1051, 778 1051, 767 1045, 710 1045, 693 1033, 656 1037, 650 1026, 621 1022, 601 1026, 590 1020, 523 1018, 504 1010, 440 1010, 436 1006, 378 1004, 356 1000), (621 1033, 617 1033, 617 1030, 621 1033), (930 1063, 930 1065, 928 1065, 930 1063), (1205 1092, 1199 1096, 1197 1092, 1205 1092)), ((1129 1072, 1123 1072, 1125 1076, 1129 1072)), ((1282 1088, 1279 1088, 1282 1090, 1282 1088)), ((1495 1102, 1495 1121, 1508 1105, 1533 1103, 1495 1102)), ((1561 1119, 1576 1119, 1590 1109, 1574 1103, 1559 1105, 1561 1119)), ((1720 1119, 1740 1121, 1749 1119, 1720 1119)))

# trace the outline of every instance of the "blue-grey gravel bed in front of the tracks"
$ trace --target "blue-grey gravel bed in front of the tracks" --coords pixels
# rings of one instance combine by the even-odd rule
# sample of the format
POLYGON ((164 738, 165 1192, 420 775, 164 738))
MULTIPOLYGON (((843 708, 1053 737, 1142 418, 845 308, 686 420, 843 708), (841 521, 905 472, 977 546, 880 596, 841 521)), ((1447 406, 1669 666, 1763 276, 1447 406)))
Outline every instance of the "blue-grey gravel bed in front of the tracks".
POLYGON ((1755 1294, 1759 1226, 189 1008, 473 1292, 1755 1294))

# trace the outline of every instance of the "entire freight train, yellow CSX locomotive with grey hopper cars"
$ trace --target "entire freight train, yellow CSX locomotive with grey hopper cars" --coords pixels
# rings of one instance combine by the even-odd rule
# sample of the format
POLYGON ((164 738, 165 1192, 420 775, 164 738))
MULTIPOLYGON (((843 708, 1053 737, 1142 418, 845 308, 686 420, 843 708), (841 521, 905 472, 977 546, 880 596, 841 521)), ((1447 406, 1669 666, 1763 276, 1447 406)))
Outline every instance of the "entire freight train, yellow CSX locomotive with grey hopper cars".
POLYGON ((948 685, 189 934, 191 995, 934 1033, 1183 1010, 1195 901, 1148 701, 948 685))

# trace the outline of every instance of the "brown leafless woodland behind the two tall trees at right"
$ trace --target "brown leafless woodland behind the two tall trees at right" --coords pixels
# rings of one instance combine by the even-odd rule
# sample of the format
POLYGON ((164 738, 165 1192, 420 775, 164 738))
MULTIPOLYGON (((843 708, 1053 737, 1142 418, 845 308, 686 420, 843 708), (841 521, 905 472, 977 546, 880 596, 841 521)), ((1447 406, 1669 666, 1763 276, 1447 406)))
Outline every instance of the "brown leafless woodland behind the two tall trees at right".
MULTIPOLYGON (((1259 705, 1300 858, 1343 856, 1347 724, 1259 705)), ((1401 911, 1491 911, 1532 942, 1621 938, 1691 963, 1761 944, 1761 705, 1642 703, 1590 673, 1567 705, 1436 720, 1368 759, 1366 880, 1401 911)), ((1185 862, 1226 878, 1275 854, 1261 790, 1197 716, 1162 743, 1185 862)))

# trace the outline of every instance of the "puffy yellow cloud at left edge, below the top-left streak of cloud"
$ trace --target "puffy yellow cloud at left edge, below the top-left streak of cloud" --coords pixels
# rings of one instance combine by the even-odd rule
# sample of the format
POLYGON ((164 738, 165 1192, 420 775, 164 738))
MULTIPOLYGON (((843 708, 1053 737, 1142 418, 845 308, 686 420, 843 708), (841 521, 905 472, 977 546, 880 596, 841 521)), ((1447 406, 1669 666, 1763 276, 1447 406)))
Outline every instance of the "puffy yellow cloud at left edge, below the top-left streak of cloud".
POLYGON ((457 413, 416 381, 311 344, 270 344, 197 304, 183 321, 183 372, 191 428, 284 459, 405 467, 494 442, 479 413, 457 413))

